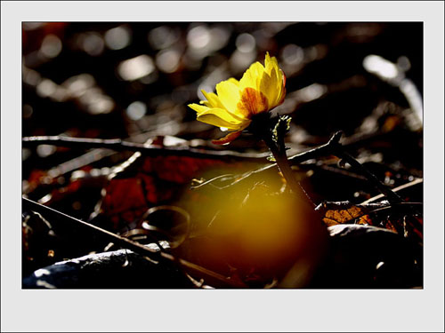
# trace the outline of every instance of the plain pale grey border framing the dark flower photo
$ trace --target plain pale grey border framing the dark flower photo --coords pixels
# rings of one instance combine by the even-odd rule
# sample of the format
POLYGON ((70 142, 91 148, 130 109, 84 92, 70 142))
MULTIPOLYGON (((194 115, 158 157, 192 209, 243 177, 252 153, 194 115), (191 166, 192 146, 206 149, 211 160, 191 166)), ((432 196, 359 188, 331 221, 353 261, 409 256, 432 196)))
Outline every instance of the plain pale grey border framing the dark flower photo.
POLYGON ((50 1, 1 7, 2 331, 444 330, 443 2, 50 1), (424 21, 425 288, 21 290, 21 21, 27 20, 424 21))

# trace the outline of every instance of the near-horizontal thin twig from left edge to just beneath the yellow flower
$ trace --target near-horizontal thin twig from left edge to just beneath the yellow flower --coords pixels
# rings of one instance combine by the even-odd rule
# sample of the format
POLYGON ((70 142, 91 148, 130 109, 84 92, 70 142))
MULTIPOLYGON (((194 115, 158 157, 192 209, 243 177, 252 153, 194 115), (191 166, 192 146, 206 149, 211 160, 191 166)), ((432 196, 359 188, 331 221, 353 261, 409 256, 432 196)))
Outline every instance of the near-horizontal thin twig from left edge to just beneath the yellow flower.
POLYGON ((229 158, 258 161, 266 158, 268 153, 240 153, 231 150, 206 150, 193 147, 160 147, 125 141, 122 139, 87 139, 61 136, 26 137, 23 146, 53 145, 58 147, 75 147, 82 149, 107 148, 115 151, 141 152, 146 156, 178 155, 198 158, 229 158))

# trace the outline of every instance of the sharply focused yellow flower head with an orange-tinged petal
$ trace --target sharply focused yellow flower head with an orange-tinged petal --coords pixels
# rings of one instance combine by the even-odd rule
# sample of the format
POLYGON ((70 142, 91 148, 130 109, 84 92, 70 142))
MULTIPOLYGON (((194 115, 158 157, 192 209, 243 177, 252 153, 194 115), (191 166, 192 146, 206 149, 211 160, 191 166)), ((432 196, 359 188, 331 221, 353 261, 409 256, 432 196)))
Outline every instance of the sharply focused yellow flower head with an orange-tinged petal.
POLYGON ((189 104, 197 112, 197 119, 231 131, 215 144, 227 144, 239 137, 241 131, 252 122, 254 115, 268 112, 279 106, 286 96, 286 76, 275 57, 266 53, 264 66, 258 61, 252 64, 241 80, 230 78, 216 84, 216 93, 202 93, 206 100, 189 104))

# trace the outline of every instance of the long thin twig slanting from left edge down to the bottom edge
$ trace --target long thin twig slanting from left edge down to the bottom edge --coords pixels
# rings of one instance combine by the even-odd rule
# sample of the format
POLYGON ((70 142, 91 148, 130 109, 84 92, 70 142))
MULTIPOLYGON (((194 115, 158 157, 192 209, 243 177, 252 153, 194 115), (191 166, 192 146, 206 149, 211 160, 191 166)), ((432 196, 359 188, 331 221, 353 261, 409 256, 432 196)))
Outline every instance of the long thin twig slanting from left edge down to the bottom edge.
POLYGON ((142 244, 138 242, 133 242, 132 240, 119 236, 117 234, 113 234, 109 232, 108 230, 102 229, 99 226, 93 226, 90 223, 87 223, 85 221, 82 221, 77 218, 70 217, 67 214, 64 214, 58 210, 53 210, 50 207, 46 207, 40 203, 33 202, 32 200, 29 200, 27 198, 22 198, 22 204, 24 207, 27 207, 29 210, 36 210, 47 217, 51 218, 51 221, 53 223, 61 222, 61 223, 69 223, 71 226, 80 226, 84 228, 84 230, 88 230, 91 234, 95 234, 97 236, 100 236, 107 240, 108 242, 114 242, 115 244, 118 244, 119 246, 122 246, 125 249, 133 250, 134 252, 149 258, 150 260, 159 260, 164 259, 167 262, 177 262, 181 264, 184 268, 187 270, 190 270, 191 272, 194 272, 195 274, 200 274, 204 276, 209 281, 214 281, 218 283, 219 285, 222 285, 223 287, 235 287, 235 288, 247 288, 247 286, 239 281, 232 281, 230 279, 227 279, 221 274, 217 274, 213 271, 210 271, 204 267, 198 266, 196 264, 190 263, 187 260, 184 260, 182 258, 175 258, 169 253, 162 252, 162 251, 156 251, 151 250, 148 247, 143 246, 142 244))

